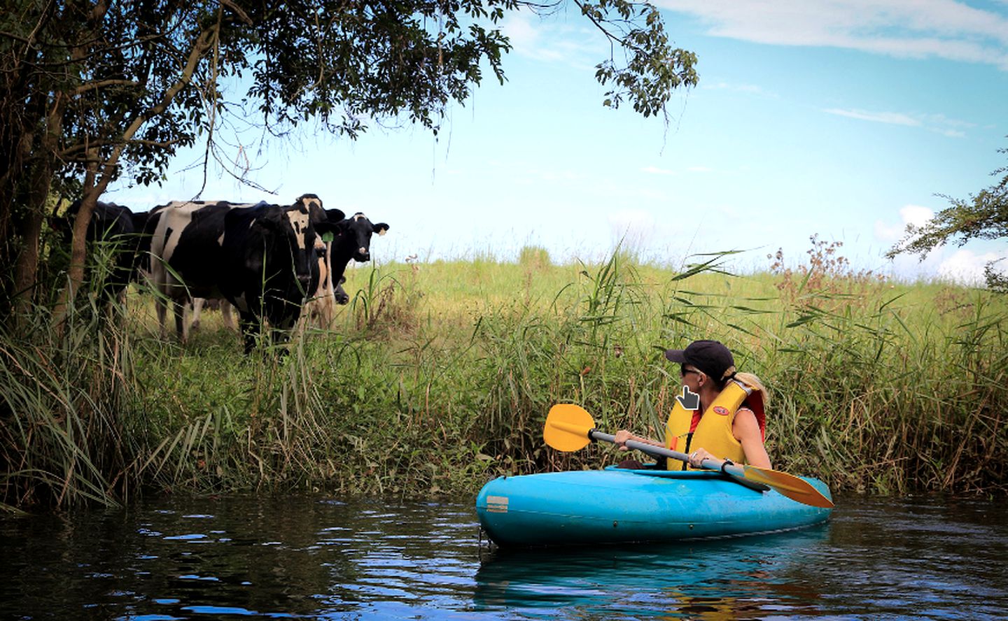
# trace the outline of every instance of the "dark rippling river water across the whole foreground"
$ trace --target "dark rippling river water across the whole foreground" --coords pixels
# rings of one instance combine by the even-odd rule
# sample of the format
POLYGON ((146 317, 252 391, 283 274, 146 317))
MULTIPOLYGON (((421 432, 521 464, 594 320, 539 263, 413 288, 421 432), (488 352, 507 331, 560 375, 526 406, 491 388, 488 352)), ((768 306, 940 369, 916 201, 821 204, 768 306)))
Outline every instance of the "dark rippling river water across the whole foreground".
POLYGON ((474 499, 159 499, 0 518, 2 619, 1000 619, 1008 502, 839 497, 830 522, 504 553, 474 499))

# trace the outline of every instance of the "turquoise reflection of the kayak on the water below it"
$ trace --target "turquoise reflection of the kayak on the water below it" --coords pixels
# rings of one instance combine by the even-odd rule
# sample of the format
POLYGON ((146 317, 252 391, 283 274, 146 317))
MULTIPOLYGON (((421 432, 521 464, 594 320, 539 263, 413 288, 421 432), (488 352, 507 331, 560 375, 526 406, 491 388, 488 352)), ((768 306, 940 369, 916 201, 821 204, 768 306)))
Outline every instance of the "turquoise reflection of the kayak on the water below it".
POLYGON ((563 617, 736 619, 811 614, 821 593, 793 581, 804 558, 828 548, 829 526, 762 537, 684 545, 497 551, 476 574, 475 601, 563 617))

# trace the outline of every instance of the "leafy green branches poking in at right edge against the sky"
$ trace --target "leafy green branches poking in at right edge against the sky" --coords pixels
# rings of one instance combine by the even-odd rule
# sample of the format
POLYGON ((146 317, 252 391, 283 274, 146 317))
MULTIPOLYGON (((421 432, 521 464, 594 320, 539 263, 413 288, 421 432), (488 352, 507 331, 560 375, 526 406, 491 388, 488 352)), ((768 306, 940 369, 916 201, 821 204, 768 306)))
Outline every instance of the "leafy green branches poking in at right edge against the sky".
MULTIPOLYGON (((1008 154, 1008 148, 998 149, 998 153, 1008 154)), ((951 206, 938 211, 923 225, 906 225, 906 235, 893 246, 886 257, 909 253, 919 255, 920 260, 937 246, 955 241, 963 246, 970 240, 1000 240, 1008 238, 1008 166, 998 168, 993 176, 1004 176, 991 187, 981 190, 969 199, 953 198, 938 194, 949 200, 951 206)), ((992 261, 984 268, 987 286, 994 291, 1008 292, 1008 278, 1000 274, 992 261)))

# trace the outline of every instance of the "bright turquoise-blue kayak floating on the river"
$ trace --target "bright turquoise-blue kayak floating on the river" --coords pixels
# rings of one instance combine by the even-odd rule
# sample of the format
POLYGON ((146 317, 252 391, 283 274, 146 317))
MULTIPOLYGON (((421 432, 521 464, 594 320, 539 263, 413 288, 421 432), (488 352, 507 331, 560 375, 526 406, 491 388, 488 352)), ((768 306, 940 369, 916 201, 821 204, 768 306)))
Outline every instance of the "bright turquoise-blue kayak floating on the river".
MULTIPOLYGON (((801 478, 830 497, 823 481, 801 478)), ((719 472, 615 467, 502 476, 476 499, 480 524, 502 547, 762 534, 823 522, 832 510, 752 489, 719 472)))

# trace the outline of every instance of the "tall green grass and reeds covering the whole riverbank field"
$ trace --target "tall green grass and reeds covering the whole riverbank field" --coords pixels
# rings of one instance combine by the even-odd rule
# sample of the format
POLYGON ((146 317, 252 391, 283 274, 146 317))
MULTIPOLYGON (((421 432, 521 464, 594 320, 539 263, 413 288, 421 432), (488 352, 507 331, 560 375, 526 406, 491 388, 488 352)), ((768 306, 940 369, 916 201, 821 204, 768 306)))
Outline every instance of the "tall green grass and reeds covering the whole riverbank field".
POLYGON ((149 295, 125 320, 44 311, 0 337, 0 502, 123 501, 141 491, 475 494, 504 473, 597 467, 609 446, 543 446, 554 403, 658 436, 676 369, 663 348, 718 338, 770 392, 774 467, 834 490, 1004 493, 1008 300, 808 265, 731 276, 617 254, 351 270, 353 302, 282 358, 241 353, 205 316, 158 337, 149 295))

